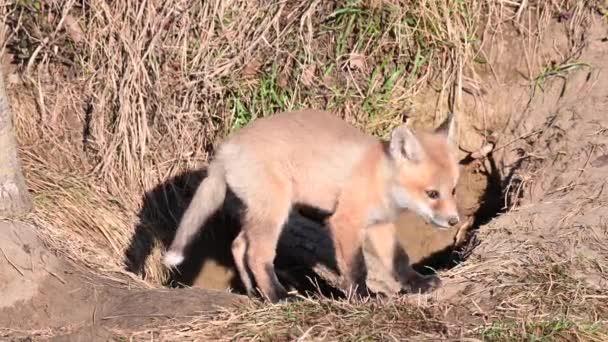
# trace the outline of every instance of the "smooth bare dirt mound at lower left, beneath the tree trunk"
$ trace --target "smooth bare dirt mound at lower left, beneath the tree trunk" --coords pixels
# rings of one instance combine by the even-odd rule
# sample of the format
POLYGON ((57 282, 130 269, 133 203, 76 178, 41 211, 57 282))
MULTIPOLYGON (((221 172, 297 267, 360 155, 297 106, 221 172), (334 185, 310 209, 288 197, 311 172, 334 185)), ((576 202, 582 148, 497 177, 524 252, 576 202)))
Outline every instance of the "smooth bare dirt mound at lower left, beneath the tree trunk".
POLYGON ((244 300, 199 289, 137 289, 137 284, 128 288, 58 258, 25 224, 0 223, 0 251, 3 338, 67 334, 69 341, 99 340, 110 336, 109 328, 136 330, 158 320, 178 322, 244 300))

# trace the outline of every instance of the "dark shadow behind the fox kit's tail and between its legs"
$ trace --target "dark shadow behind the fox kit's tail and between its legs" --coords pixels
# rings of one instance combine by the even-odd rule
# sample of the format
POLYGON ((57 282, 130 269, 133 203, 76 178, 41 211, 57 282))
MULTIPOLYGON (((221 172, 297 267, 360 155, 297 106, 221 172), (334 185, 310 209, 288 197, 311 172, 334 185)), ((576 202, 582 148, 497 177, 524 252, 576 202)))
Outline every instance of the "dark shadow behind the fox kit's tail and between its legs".
MULTIPOLYGON (((125 252, 128 271, 145 276, 144 265, 155 244, 160 242, 164 249, 171 244, 182 215, 205 177, 204 169, 185 172, 145 194, 138 215, 139 223, 125 252)), ((188 248, 186 261, 173 272, 165 285, 192 286, 204 281, 201 285, 205 288, 230 287, 237 293, 244 293, 231 254, 232 240, 241 229, 243 209, 242 202, 229 190, 223 208, 205 223, 201 234, 188 248)), ((318 223, 326 216, 305 207, 296 208, 290 215, 279 241, 276 261, 277 274, 285 286, 303 292, 321 290, 324 294, 339 296, 339 291, 321 279, 312 281, 315 278, 312 271, 314 265, 323 263, 331 270, 336 269, 331 238, 327 230, 320 229, 318 223), (292 229, 296 226, 305 228, 305 236, 299 236, 300 233, 292 229), (286 235, 291 235, 291 238, 286 238, 286 235), (302 246, 300 241, 309 239, 308 235, 313 239, 311 245, 302 246), (299 252, 294 256, 295 248, 299 252)))

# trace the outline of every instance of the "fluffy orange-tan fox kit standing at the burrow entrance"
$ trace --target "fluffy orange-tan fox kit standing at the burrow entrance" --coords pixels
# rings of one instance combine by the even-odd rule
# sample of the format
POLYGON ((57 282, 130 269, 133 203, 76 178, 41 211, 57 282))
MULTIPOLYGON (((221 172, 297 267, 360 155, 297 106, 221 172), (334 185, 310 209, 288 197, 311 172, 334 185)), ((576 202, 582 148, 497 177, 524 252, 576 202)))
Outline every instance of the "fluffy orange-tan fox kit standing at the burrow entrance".
MULTIPOLYGON (((433 132, 414 134, 401 125, 384 143, 323 111, 258 119, 217 149, 164 263, 174 267, 183 261, 188 243, 219 209, 230 187, 246 207, 232 254, 249 295, 254 288, 248 270, 271 302, 287 295, 273 262, 294 204, 332 213, 327 225, 342 285, 345 289, 354 286, 361 293, 365 280, 359 263, 367 231, 390 224, 403 210, 412 210, 439 227, 459 222, 454 200, 459 177, 454 130, 449 115, 433 132)), ((386 262, 391 253, 385 253, 386 262)), ((404 281, 411 280, 411 272, 411 268, 402 272, 404 281)))

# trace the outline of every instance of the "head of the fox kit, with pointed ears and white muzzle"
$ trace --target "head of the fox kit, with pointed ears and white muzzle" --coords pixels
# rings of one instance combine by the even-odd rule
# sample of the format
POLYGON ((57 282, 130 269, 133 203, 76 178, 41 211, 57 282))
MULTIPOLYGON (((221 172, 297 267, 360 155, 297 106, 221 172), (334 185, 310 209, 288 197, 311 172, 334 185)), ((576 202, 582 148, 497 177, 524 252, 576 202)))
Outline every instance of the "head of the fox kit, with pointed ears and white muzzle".
POLYGON ((395 167, 390 198, 399 209, 412 210, 441 228, 460 222, 455 193, 459 167, 453 114, 433 132, 405 124, 391 134, 389 154, 395 167))

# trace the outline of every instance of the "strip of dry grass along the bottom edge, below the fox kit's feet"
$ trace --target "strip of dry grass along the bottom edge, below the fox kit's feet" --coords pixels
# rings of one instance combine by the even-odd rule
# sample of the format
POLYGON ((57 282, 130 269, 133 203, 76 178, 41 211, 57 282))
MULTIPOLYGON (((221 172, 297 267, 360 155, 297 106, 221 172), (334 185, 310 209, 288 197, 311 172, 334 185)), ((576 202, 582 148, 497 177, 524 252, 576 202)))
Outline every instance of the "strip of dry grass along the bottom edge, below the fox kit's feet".
MULTIPOLYGON (((531 268, 537 266, 544 264, 531 268)), ((411 297, 364 301, 302 297, 276 305, 251 302, 180 323, 114 333, 142 341, 605 341, 605 291, 599 295, 580 281, 560 279, 564 274, 552 265, 526 279, 520 278, 521 273, 514 278, 487 273, 506 282, 491 286, 504 293, 492 305, 477 293, 476 312, 469 311, 466 298, 437 302, 423 297, 413 305, 411 297)))

